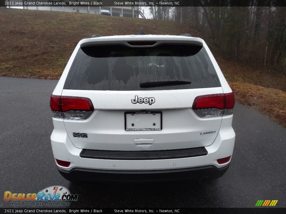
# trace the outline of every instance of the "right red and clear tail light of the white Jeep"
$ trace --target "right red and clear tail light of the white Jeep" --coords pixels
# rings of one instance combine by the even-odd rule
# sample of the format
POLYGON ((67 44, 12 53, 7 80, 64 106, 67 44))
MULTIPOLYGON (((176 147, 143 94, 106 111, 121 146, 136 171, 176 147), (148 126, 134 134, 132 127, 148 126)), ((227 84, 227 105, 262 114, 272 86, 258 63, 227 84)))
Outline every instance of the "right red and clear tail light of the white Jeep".
POLYGON ((195 98, 192 108, 199 117, 221 117, 233 114, 235 99, 228 94, 202 95, 195 98))

